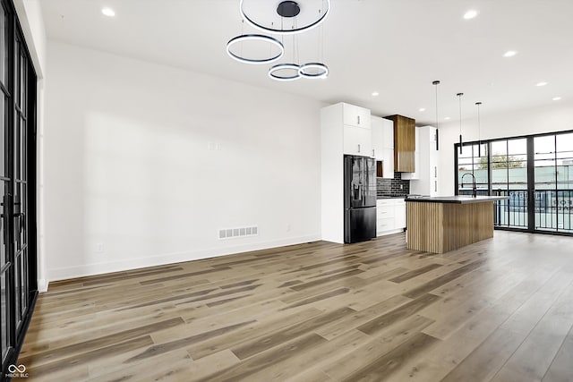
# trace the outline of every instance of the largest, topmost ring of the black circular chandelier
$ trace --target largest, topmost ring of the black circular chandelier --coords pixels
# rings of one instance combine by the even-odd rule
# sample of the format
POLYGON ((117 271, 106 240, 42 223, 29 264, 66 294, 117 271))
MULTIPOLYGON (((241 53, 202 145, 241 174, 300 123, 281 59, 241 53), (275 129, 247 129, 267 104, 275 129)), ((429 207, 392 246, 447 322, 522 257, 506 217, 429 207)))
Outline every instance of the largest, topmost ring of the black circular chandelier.
MULTIPOLYGON (((247 2, 249 0, 246 0, 247 2)), ((312 30, 313 28, 318 27, 324 22, 327 16, 330 13, 330 0, 322 0, 323 3, 326 3, 326 10, 320 9, 320 16, 318 19, 310 21, 303 26, 297 26, 293 24, 291 29, 284 29, 282 26, 281 28, 275 28, 274 24, 271 23, 270 26, 265 26, 261 23, 261 21, 257 22, 254 20, 254 17, 251 15, 249 16, 247 13, 244 12, 244 2, 245 0, 241 0, 239 4, 239 12, 241 13, 241 17, 243 17, 244 21, 247 21, 249 25, 253 28, 258 30, 263 30, 268 33, 276 33, 280 35, 291 35, 296 33, 301 33, 306 30, 312 30)), ((278 4, 277 13, 281 18, 294 18, 301 12, 301 7, 295 1, 282 1, 278 4)))

